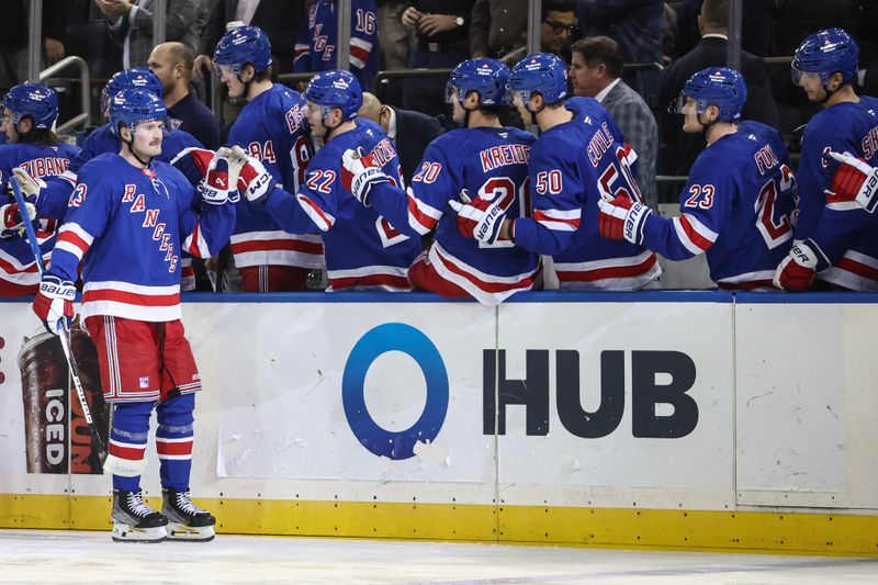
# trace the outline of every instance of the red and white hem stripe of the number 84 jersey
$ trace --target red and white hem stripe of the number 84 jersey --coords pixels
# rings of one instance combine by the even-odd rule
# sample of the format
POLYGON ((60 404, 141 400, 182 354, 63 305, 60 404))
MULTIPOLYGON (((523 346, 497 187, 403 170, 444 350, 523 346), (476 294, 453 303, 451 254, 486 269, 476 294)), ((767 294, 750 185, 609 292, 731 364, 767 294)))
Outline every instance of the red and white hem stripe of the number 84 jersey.
POLYGON ((245 232, 232 236, 235 266, 295 266, 324 268, 323 241, 316 235, 283 230, 245 232))

